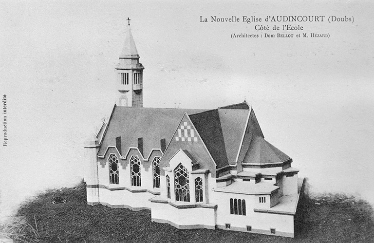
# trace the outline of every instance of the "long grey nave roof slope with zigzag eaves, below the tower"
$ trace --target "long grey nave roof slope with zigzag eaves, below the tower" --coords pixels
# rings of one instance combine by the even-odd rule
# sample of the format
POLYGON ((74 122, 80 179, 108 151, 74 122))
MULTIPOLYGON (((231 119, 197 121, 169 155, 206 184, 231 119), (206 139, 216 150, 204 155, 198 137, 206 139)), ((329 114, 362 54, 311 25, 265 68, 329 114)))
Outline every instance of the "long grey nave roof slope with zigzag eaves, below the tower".
POLYGON ((204 111, 114 106, 98 155, 104 155, 108 146, 115 146, 115 138, 121 136, 121 155, 125 156, 130 147, 138 147, 138 138, 142 137, 143 156, 147 158, 152 149, 161 148, 161 139, 169 143, 185 112, 204 111))

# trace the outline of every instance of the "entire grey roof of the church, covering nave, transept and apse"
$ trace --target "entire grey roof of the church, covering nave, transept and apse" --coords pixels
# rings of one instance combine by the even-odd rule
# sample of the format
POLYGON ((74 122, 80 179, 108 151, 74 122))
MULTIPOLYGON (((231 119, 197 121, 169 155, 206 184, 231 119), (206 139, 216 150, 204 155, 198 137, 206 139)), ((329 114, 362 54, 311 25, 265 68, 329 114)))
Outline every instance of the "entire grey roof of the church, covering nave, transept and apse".
POLYGON ((217 169, 235 164, 238 153, 243 154, 243 163, 268 164, 289 160, 288 155, 264 140, 257 120, 253 120, 255 118, 248 120, 251 112, 253 111, 250 108, 220 108, 207 111, 114 106, 104 134, 98 134, 99 137, 103 136, 98 155, 103 156, 108 146, 115 146, 116 137, 120 136, 121 155, 125 155, 131 147, 137 148, 138 138, 142 138, 142 155, 148 158, 152 149, 161 148, 161 139, 165 139, 166 144, 170 142, 172 134, 187 113, 217 169), (253 129, 248 130, 247 125, 251 124, 253 129), (253 136, 245 146, 242 145, 243 134, 253 136))

